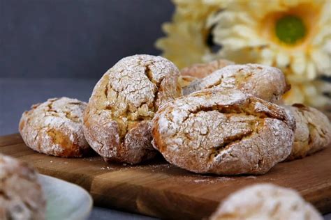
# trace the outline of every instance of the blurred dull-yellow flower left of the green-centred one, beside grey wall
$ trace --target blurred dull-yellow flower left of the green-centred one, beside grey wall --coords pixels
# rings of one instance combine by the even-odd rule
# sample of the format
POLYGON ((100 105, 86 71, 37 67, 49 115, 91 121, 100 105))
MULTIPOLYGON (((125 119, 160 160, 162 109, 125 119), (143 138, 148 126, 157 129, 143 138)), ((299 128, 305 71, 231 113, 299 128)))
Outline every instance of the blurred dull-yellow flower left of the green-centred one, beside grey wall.
POLYGON ((162 56, 173 61, 178 68, 201 63, 208 53, 207 17, 218 7, 209 6, 203 0, 175 0, 174 3, 177 8, 172 23, 162 26, 168 36, 157 40, 156 47, 163 50, 162 56))

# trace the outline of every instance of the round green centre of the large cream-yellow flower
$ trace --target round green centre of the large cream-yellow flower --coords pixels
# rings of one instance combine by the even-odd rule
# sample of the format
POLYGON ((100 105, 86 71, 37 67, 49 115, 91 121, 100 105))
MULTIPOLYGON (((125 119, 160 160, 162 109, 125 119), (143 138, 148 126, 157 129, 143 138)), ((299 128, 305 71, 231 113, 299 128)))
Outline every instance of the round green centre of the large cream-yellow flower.
POLYGON ((288 45, 294 45, 306 35, 306 26, 300 17, 286 15, 276 23, 276 36, 288 45))

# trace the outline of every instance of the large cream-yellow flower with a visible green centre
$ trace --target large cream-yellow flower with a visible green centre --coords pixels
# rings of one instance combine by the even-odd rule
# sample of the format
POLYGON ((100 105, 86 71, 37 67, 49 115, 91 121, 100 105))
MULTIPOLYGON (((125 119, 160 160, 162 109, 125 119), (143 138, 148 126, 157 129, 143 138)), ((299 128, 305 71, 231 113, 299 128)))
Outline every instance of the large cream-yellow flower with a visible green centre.
POLYGON ((330 0, 225 4, 226 10, 208 19, 209 27, 215 25, 214 42, 223 45, 219 56, 273 65, 302 81, 331 76, 330 0))

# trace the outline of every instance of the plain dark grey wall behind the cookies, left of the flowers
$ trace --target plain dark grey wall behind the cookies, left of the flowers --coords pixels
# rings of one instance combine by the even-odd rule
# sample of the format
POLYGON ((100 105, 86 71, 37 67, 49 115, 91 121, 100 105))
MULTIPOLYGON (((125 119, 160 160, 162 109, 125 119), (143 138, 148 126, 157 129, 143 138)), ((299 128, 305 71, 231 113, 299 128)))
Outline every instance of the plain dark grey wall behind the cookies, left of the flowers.
POLYGON ((0 0, 0 77, 100 78, 120 58, 160 54, 168 0, 0 0))

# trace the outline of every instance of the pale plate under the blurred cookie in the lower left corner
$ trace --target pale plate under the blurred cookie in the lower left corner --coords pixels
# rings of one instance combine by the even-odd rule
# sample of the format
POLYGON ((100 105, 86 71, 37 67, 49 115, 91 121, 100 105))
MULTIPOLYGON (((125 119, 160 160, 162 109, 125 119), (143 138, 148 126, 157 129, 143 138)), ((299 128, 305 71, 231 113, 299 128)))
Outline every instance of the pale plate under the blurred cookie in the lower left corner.
POLYGON ((82 220, 89 217, 93 201, 85 189, 47 175, 38 175, 38 178, 46 196, 47 220, 82 220))

